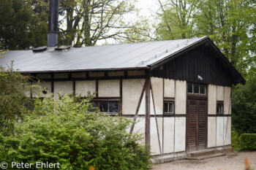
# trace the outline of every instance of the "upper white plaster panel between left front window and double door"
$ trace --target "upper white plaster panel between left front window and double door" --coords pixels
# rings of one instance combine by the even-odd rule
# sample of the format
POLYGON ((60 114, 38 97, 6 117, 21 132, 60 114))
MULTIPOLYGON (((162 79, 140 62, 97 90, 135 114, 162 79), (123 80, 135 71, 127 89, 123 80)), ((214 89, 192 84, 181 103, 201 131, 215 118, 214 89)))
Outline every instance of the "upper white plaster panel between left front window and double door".
POLYGON ((176 80, 175 114, 186 114, 187 83, 176 80))

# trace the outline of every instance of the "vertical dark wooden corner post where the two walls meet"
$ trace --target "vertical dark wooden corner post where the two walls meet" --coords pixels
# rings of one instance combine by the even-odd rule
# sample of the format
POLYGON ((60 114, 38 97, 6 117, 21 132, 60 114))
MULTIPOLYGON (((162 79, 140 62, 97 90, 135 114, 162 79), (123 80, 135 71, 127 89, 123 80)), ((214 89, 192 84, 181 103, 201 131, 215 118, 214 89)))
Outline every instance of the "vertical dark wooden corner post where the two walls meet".
POLYGON ((145 144, 150 145, 150 78, 146 78, 145 144))

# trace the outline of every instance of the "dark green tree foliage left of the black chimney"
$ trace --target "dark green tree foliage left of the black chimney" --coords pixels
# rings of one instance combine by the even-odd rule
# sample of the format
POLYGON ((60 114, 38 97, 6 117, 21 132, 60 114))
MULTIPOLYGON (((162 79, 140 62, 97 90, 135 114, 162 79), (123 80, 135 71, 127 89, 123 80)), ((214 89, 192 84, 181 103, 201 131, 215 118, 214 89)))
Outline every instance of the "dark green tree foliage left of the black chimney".
POLYGON ((0 46, 21 50, 47 44, 47 24, 34 14, 28 0, 0 0, 0 46))

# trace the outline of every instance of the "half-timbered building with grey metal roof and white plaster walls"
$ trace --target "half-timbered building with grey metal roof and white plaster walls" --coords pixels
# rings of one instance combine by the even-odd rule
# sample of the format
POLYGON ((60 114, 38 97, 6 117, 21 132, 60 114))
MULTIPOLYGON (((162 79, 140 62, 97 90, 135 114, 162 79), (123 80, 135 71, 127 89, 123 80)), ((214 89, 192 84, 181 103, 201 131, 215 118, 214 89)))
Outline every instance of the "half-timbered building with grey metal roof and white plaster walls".
POLYGON ((55 97, 97 92, 93 101, 102 112, 138 122, 127 131, 143 134, 152 155, 182 157, 231 144, 231 86, 245 80, 207 36, 6 56, 1 66, 14 61, 55 97))

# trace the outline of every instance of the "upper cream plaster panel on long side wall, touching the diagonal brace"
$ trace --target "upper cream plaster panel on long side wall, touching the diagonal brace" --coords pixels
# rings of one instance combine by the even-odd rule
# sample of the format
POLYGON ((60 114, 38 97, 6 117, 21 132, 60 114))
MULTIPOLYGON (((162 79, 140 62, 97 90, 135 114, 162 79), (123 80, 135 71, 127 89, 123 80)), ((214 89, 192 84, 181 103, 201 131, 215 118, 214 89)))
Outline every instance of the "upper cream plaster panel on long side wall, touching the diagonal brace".
POLYGON ((123 80, 123 115, 135 115, 144 83, 144 79, 123 80))

